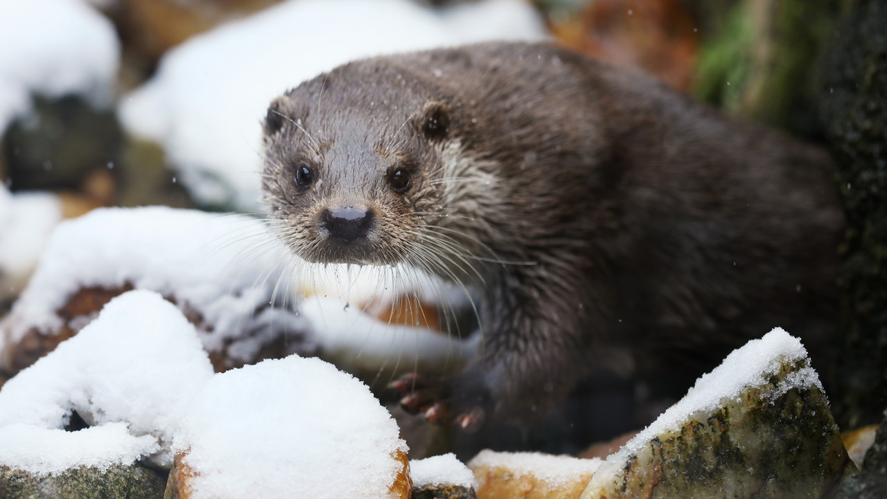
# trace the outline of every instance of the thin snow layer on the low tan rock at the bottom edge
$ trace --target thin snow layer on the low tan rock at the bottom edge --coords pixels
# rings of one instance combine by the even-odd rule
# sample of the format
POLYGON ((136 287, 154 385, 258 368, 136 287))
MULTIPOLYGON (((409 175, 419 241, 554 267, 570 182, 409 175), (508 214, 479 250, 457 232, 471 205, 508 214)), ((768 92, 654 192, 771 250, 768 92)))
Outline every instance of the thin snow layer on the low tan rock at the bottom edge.
POLYGON ((471 469, 506 468, 516 475, 532 475, 552 484, 560 486, 575 481, 583 475, 593 474, 602 461, 580 459, 570 455, 550 455, 538 452, 493 452, 482 450, 468 462, 471 469))

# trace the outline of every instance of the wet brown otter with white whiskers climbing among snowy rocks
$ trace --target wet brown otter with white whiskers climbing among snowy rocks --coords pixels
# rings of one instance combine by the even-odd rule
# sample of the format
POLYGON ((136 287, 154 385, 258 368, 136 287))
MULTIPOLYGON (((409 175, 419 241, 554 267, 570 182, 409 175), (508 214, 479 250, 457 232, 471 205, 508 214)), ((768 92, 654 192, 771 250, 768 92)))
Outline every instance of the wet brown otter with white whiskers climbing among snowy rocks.
POLYGON ((357 60, 275 99, 263 144, 296 255, 478 294, 475 360, 393 384, 428 419, 531 420, 599 371, 683 392, 776 326, 828 364, 828 154, 647 75, 550 44, 357 60))

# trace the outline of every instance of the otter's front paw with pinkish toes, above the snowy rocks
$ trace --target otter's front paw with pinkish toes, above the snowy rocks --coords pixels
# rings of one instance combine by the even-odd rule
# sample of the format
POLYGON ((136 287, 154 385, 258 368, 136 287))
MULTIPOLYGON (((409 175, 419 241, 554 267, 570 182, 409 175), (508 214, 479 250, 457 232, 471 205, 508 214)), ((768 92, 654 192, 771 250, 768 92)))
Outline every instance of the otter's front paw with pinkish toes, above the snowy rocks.
POLYGON ((400 405, 405 411, 425 416, 428 423, 452 424, 474 432, 489 412, 483 407, 487 397, 456 388, 463 385, 453 378, 428 379, 409 373, 391 382, 389 388, 400 395, 400 405))

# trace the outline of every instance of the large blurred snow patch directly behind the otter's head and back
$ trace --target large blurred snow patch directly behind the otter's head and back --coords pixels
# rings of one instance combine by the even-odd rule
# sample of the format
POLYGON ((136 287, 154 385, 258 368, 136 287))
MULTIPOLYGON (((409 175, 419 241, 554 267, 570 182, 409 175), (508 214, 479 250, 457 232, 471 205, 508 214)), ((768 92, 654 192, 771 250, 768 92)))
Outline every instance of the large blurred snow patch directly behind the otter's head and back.
POLYGON ((348 60, 493 39, 540 40, 518 0, 432 8, 411 0, 289 0, 194 36, 122 100, 124 126, 160 142, 199 202, 258 209, 271 100, 348 60))

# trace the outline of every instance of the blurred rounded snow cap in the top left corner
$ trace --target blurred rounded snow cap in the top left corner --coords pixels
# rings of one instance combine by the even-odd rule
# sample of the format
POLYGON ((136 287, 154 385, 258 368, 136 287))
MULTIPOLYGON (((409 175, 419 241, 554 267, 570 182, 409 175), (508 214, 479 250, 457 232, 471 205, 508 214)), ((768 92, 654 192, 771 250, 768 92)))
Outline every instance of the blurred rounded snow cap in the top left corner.
POLYGON ((111 21, 81 0, 0 2, 0 135, 31 94, 109 104, 120 58, 111 21))

